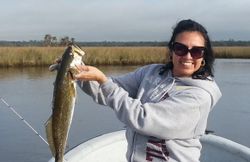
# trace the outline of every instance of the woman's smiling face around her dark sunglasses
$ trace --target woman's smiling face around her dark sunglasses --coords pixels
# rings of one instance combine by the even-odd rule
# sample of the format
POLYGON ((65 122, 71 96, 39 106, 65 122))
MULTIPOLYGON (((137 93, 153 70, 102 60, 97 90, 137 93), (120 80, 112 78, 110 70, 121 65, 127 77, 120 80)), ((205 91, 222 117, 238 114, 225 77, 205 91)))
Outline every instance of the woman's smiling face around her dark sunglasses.
MULTIPOLYGON (((181 43, 192 49, 193 47, 205 47, 205 39, 200 32, 185 31, 178 34, 175 42, 181 43)), ((178 56, 172 51, 173 75, 175 77, 191 77, 201 67, 202 58, 194 59, 190 52, 184 56, 178 56)))

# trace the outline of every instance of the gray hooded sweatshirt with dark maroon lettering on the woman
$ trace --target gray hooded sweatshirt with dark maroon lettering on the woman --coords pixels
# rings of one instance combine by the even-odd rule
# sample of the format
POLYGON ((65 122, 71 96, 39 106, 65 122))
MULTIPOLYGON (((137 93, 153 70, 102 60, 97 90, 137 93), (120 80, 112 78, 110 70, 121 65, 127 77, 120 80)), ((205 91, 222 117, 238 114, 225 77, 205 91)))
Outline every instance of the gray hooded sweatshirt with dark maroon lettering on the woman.
POLYGON ((199 162, 199 139, 221 92, 212 79, 175 78, 171 71, 159 75, 163 66, 147 65, 101 86, 78 84, 126 125, 128 161, 199 162))

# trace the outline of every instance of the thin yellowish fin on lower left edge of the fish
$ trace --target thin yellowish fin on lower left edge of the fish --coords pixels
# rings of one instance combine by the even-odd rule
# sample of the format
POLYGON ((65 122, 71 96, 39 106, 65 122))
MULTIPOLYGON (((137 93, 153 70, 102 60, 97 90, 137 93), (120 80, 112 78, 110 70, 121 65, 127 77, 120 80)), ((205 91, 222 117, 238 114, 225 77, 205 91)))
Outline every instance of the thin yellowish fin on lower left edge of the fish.
POLYGON ((50 151, 52 155, 55 157, 56 151, 55 151, 55 145, 54 145, 54 139, 53 139, 53 133, 52 133, 52 117, 50 117, 45 123, 45 130, 46 130, 46 136, 47 136, 47 140, 49 143, 50 151))

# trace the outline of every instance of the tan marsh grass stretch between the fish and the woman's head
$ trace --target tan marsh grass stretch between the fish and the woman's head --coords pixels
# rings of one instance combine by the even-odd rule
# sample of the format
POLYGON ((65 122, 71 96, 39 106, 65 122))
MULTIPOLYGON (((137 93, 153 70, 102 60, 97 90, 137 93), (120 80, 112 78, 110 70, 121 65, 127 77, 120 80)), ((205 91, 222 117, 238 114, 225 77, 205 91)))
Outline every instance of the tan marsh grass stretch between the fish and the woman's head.
POLYGON ((88 47, 84 49, 86 64, 141 65, 166 62, 164 47, 88 47))

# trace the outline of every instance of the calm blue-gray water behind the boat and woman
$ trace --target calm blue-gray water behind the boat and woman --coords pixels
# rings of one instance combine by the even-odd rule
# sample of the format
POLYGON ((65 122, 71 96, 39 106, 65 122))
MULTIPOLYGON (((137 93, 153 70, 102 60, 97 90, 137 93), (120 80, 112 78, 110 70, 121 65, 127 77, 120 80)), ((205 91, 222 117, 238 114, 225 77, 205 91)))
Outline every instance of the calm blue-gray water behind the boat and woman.
MULTIPOLYGON (((136 67, 100 67, 108 75, 136 67)), ((216 60, 216 80, 222 99, 210 114, 208 129, 250 147, 250 60, 216 60)), ((19 112, 43 137, 51 113, 55 73, 47 68, 0 69, 0 96, 19 112)), ((78 89, 67 149, 103 133, 123 129, 112 110, 95 104, 78 89)), ((0 161, 44 162, 48 146, 0 102, 0 161)))

